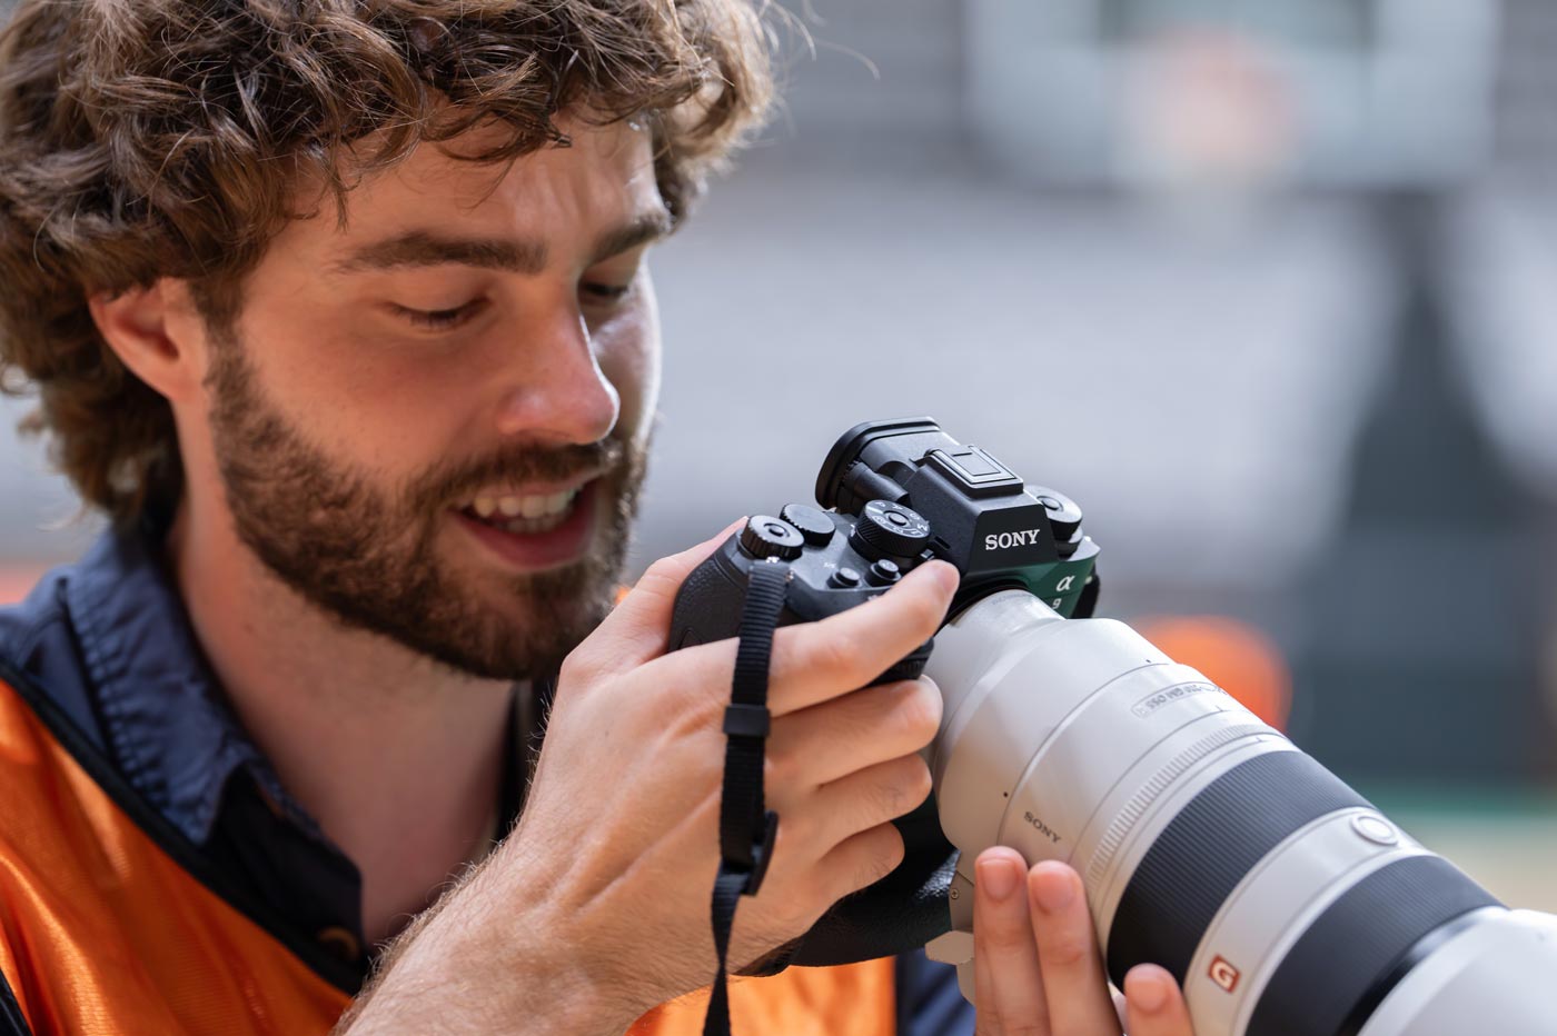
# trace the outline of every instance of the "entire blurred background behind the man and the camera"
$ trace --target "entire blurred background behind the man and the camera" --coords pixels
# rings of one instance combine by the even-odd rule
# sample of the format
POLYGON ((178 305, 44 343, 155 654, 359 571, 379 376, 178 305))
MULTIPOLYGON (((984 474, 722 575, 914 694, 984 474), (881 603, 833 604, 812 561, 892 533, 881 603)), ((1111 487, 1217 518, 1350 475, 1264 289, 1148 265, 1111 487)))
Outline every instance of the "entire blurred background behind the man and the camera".
MULTIPOLYGON (((1557 910, 1557 5, 791 11, 655 257, 635 571, 930 414, 1082 506, 1104 614, 1557 910)), ((0 596, 92 535, 25 408, 0 596)))

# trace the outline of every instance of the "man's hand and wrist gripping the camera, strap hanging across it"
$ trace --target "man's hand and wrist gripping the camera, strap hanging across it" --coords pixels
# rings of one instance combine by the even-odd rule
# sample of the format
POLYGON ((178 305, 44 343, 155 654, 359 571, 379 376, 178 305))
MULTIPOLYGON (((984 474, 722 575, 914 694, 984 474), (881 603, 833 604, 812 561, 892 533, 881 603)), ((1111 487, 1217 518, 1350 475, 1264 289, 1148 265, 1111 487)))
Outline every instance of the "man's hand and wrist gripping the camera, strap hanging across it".
MULTIPOLYGON (((715 972, 724 708, 735 641, 665 653, 676 593, 733 532, 665 558, 564 663, 518 828, 392 950, 352 1033, 620 1034, 715 972)), ((863 688, 939 628, 931 562, 858 608, 775 632, 766 800, 778 837, 741 899, 738 971, 903 859, 892 818, 930 795, 928 680, 863 688)))

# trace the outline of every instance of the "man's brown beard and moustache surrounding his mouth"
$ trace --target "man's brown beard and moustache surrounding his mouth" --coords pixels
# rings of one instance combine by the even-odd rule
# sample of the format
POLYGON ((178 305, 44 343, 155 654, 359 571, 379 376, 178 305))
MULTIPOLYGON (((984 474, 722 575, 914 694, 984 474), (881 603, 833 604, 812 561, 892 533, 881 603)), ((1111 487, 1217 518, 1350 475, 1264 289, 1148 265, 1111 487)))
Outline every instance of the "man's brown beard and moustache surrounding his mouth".
POLYGON ((262 394, 241 342, 224 338, 213 342, 207 384, 227 507, 240 540, 304 599, 347 627, 495 680, 556 672, 610 610, 646 445, 506 448, 383 487, 288 425, 262 394), (557 482, 585 471, 599 474, 596 524, 590 552, 578 562, 476 580, 439 555, 439 530, 480 488, 557 482))

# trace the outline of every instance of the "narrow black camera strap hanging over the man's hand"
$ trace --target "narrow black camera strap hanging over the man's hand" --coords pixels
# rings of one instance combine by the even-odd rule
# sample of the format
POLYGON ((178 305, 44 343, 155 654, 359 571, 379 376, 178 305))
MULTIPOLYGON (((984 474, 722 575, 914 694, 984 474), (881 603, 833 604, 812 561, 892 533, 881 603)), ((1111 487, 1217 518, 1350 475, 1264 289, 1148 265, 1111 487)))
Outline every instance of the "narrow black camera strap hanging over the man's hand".
POLYGON ((724 709, 724 790, 719 798, 719 876, 713 882, 713 946, 719 972, 708 996, 704 1036, 730 1036, 727 957, 735 908, 755 896, 768 873, 778 814, 763 803, 763 759, 768 748, 768 667, 774 627, 783 613, 789 566, 775 558, 752 565, 741 610, 740 644, 730 705, 724 709))

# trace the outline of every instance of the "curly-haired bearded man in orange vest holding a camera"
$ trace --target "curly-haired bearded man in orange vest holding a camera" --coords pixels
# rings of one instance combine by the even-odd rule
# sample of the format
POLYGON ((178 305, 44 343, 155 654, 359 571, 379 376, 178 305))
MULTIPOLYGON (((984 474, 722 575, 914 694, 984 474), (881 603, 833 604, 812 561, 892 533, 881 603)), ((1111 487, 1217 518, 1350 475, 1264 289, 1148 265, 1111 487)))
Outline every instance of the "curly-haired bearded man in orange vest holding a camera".
MULTIPOLYGON (((112 530, 0 621, 0 1031, 698 1031, 657 1005, 713 972, 733 646, 665 633, 718 540, 609 602, 645 254, 766 92, 738 0, 22 5, 0 362, 112 530)), ((735 966, 902 857, 939 695, 856 688, 953 586, 778 633, 735 966)), ((1037 938, 1021 862, 979 879, 979 1025, 1116 1033, 1074 874, 1028 877, 1037 938)), ((1127 992, 1188 1031, 1166 974, 1127 992)), ((954 1031, 953 997, 867 961, 732 1005, 954 1031)))

